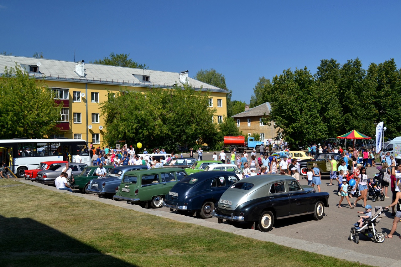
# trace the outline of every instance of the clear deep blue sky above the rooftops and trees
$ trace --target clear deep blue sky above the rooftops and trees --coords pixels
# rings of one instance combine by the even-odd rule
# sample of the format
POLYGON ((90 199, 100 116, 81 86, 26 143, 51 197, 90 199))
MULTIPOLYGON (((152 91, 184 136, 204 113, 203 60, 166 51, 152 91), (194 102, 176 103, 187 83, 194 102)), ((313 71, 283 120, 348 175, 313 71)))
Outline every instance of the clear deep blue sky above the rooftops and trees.
POLYGON ((223 73, 249 103, 258 78, 321 59, 401 62, 400 1, 0 0, 0 51, 85 62, 130 53, 150 69, 223 73))

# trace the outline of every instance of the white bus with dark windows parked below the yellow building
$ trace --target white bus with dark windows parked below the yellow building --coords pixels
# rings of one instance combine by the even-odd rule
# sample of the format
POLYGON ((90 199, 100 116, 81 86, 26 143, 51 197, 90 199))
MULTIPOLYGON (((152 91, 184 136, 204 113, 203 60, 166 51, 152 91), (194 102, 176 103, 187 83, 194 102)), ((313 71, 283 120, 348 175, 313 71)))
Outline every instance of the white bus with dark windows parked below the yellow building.
MULTIPOLYGON (((0 160, 19 178, 25 170, 32 170, 39 163, 53 160, 74 162, 79 151, 82 162, 91 165, 88 146, 82 139, 28 139, 0 140, 0 160)), ((0 165, 2 162, 0 162, 0 165)))

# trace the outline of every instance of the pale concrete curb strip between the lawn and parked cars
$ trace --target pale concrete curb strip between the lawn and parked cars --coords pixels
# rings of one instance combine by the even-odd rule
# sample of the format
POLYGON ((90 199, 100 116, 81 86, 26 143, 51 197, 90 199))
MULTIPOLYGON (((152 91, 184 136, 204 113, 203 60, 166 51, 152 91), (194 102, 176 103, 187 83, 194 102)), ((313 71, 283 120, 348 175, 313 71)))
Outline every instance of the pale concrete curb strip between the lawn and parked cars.
POLYGON ((347 261, 363 263, 363 264, 373 265, 373 266, 380 266, 380 267, 399 267, 399 266, 401 266, 401 261, 397 260, 397 259, 377 257, 377 256, 369 255, 369 254, 359 253, 359 252, 352 251, 349 249, 342 249, 340 247, 332 247, 329 245, 310 242, 310 241, 306 241, 306 240, 302 240, 302 239, 294 239, 294 238, 290 238, 290 237, 277 236, 277 235, 274 235, 271 233, 262 233, 260 231, 253 230, 253 229, 239 229, 232 225, 217 224, 217 223, 212 223, 212 222, 205 221, 205 220, 198 219, 198 218, 193 218, 193 217, 184 216, 184 215, 180 215, 180 214, 174 214, 171 212, 141 208, 138 205, 127 204, 125 202, 115 201, 115 200, 106 199, 106 198, 94 198, 93 196, 87 195, 87 194, 77 194, 77 193, 71 193, 71 192, 68 192, 65 190, 57 190, 53 186, 47 186, 44 184, 30 182, 27 180, 19 180, 18 182, 41 187, 41 188, 44 188, 47 190, 56 191, 56 192, 59 192, 60 194, 71 194, 73 196, 85 198, 88 200, 95 200, 95 201, 102 202, 105 204, 111 204, 113 206, 127 208, 127 209, 135 210, 138 212, 144 212, 144 213, 154 215, 154 216, 161 216, 164 218, 169 218, 171 220, 175 220, 175 221, 178 221, 181 223, 192 223, 195 225, 200 225, 200 226, 208 227, 211 229, 216 229, 216 230, 221 230, 224 232, 233 233, 235 235, 241 235, 244 237, 257 239, 260 241, 273 242, 273 243, 283 245, 286 247, 300 249, 300 250, 304 250, 304 251, 308 251, 308 252, 314 252, 314 253, 318 253, 318 254, 325 255, 325 256, 331 256, 331 257, 338 258, 338 259, 344 259, 347 261))

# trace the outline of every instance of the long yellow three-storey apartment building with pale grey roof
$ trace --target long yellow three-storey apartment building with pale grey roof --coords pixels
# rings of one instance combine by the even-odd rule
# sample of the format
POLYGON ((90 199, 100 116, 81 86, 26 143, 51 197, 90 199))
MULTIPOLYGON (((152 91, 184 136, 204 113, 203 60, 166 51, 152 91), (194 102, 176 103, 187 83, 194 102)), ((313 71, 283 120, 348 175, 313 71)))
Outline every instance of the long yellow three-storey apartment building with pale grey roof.
POLYGON ((33 57, 0 55, 0 76, 4 68, 19 67, 45 83, 57 94, 56 101, 63 102, 58 127, 61 134, 51 138, 65 137, 84 139, 88 143, 103 146, 104 114, 99 103, 107 100, 107 91, 146 91, 149 88, 170 89, 188 82, 195 90, 209 95, 209 107, 216 108, 215 122, 227 115, 227 93, 225 89, 188 77, 181 73, 133 69, 127 67, 88 64, 33 57))

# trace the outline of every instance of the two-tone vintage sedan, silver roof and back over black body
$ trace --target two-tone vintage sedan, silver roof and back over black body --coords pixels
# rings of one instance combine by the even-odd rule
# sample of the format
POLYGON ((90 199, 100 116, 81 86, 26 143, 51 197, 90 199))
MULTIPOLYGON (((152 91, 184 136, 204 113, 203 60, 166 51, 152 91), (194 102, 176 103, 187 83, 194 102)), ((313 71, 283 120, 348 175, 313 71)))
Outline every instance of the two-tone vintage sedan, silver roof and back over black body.
POLYGON ((267 232, 281 218, 313 214, 315 220, 321 220, 329 196, 328 192, 317 193, 312 186, 301 186, 291 176, 252 176, 227 189, 212 216, 219 218, 219 223, 223 219, 255 223, 257 229, 267 232))

